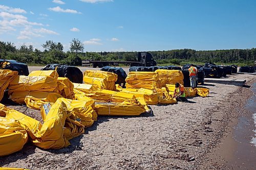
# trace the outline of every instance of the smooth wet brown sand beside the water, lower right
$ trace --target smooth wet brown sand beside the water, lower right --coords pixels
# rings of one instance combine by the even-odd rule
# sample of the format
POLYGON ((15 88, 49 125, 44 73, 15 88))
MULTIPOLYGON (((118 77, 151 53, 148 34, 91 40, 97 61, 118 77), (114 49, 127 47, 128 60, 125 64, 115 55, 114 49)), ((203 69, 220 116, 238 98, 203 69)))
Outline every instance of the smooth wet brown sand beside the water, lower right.
POLYGON ((238 118, 231 120, 219 145, 214 152, 208 154, 209 164, 218 164, 218 169, 256 169, 256 146, 251 143, 255 135, 255 123, 252 116, 256 111, 256 83, 253 82, 255 79, 250 83, 253 85, 250 90, 246 90, 252 96, 240 109, 242 113, 238 118))

